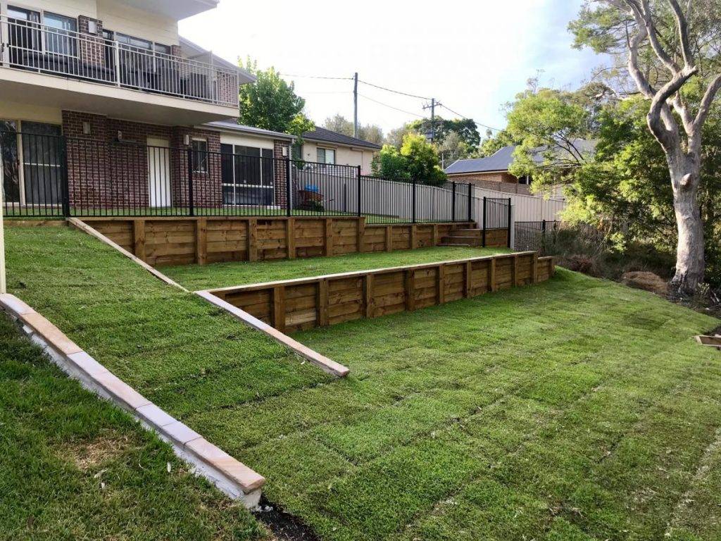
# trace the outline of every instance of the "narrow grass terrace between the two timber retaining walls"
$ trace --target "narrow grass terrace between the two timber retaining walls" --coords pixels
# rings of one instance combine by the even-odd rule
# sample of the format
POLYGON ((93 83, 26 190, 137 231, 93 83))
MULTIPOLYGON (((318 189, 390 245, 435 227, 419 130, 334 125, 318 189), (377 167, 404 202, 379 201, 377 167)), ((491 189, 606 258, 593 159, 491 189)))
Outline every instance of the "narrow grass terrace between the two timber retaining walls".
POLYGON ((336 255, 332 258, 307 258, 278 261, 213 263, 213 265, 177 265, 159 271, 191 291, 239 286, 245 283, 273 282, 306 278, 321 274, 350 273, 373 268, 398 267, 477 258, 508 252, 503 248, 435 247, 396 252, 336 255))

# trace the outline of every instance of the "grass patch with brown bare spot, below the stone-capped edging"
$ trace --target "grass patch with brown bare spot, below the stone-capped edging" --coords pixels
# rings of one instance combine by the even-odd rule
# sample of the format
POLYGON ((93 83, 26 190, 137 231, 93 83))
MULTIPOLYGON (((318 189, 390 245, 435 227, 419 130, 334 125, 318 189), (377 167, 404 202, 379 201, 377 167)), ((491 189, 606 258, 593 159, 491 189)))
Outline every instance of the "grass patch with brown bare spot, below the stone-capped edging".
POLYGON ((265 538, 242 505, 66 378, 2 315, 0 471, 2 540, 265 538))

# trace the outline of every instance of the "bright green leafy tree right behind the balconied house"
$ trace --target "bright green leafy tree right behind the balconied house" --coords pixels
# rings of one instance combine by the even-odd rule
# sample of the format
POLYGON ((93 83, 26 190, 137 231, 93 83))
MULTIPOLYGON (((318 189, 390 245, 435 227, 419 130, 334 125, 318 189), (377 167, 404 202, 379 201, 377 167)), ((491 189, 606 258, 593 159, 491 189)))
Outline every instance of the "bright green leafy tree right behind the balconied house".
POLYGON ((239 65, 257 78, 254 84, 240 88, 239 123, 296 136, 314 128, 304 114, 306 100, 296 94, 292 82, 281 79, 273 67, 258 69, 257 62, 250 59, 239 65))

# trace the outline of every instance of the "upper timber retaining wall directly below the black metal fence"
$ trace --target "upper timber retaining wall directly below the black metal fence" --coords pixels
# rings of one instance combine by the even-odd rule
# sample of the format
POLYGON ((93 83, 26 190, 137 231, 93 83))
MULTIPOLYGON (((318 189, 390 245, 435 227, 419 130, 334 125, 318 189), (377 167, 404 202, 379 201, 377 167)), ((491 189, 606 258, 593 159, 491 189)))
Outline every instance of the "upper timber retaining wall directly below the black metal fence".
MULTIPOLYGON (((368 225, 365 218, 357 216, 159 216, 82 220, 150 265, 203 265, 412 250, 438 246, 452 229, 475 225, 469 221, 368 225)), ((487 239, 489 247, 508 245, 505 229, 489 230, 487 239)))

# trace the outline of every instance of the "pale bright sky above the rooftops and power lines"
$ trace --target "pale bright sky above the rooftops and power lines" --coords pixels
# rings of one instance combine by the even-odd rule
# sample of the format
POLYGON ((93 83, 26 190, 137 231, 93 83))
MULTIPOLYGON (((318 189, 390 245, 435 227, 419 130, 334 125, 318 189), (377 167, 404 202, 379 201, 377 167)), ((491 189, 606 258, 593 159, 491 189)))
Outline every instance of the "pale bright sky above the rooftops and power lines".
MULTIPOLYGON (((221 0, 218 9, 182 21, 180 33, 227 60, 250 56, 261 67, 296 76, 288 79, 316 123, 335 113, 353 118, 353 84, 307 76, 352 77, 358 71, 361 81, 435 97, 478 123, 503 128, 503 105, 539 70, 542 83, 572 88, 598 64, 592 52, 570 46, 567 25, 580 4, 221 0)), ((360 122, 384 131, 430 113, 423 110, 425 100, 365 84, 359 92, 360 122)), ((443 109, 438 114, 456 116, 443 109)))

